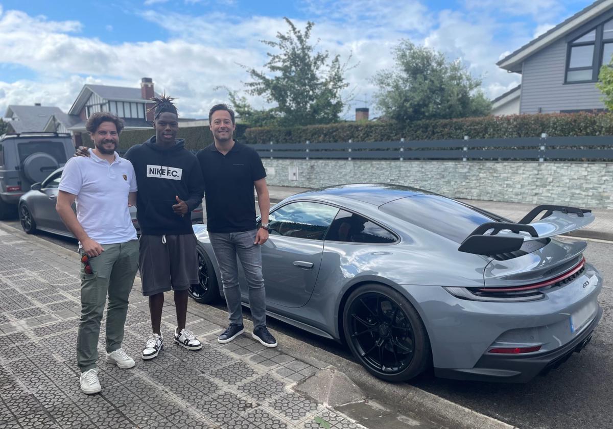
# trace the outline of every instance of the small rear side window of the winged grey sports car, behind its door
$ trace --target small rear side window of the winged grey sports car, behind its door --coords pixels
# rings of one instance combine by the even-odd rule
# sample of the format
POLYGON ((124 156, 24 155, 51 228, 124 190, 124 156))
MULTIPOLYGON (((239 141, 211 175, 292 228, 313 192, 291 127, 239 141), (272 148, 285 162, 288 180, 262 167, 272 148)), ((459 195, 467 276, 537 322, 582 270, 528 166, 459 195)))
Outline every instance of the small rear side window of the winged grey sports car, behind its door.
POLYGON ((384 244, 395 243, 398 239, 393 233, 364 216, 340 210, 328 230, 326 240, 384 244))

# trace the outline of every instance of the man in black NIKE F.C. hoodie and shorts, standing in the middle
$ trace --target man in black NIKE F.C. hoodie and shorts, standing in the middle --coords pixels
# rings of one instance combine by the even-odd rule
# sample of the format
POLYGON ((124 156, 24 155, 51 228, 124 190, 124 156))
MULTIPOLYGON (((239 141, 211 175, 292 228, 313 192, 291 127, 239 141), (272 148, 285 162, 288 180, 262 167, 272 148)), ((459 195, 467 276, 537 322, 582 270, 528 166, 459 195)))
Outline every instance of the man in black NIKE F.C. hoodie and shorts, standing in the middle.
MULTIPOLYGON (((202 170, 196 156, 185 149, 185 140, 176 139, 177 108, 172 97, 154 97, 153 128, 156 135, 132 146, 124 155, 134 166, 137 219, 140 226, 139 268, 143 295, 149 297, 151 328, 142 358, 153 359, 162 349, 160 329, 164 292, 174 290, 177 311, 175 343, 188 350, 202 348, 185 328, 188 289, 198 283, 196 235, 191 211, 202 202, 202 170)), ((77 155, 89 156, 80 146, 77 155)))

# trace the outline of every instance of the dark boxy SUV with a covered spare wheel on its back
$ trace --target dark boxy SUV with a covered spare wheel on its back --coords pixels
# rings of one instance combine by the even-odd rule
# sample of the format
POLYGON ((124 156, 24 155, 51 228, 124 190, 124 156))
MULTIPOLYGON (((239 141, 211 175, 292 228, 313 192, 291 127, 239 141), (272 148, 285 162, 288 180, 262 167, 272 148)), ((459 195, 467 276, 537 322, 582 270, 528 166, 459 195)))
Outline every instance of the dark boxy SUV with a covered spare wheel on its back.
POLYGON ((75 153, 70 134, 24 132, 0 136, 0 219, 17 214, 19 198, 75 153))

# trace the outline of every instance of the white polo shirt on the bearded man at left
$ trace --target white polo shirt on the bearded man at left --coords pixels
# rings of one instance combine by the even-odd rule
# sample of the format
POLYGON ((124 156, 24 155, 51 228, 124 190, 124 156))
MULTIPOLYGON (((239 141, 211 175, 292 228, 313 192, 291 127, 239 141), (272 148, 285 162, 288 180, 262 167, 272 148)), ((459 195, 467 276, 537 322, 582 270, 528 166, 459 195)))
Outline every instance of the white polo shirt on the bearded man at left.
POLYGON ((132 163, 116 152, 113 164, 89 155, 66 162, 59 190, 77 196, 77 219, 89 238, 101 245, 136 240, 128 210, 128 194, 138 190, 132 163))

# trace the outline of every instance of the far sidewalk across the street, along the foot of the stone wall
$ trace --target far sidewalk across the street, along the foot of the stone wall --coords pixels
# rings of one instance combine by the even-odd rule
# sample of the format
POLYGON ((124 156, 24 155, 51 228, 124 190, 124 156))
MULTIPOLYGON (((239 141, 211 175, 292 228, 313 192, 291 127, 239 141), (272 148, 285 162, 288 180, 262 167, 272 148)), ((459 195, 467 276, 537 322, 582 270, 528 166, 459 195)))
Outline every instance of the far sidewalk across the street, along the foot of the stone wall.
MULTIPOLYGON (((307 191, 308 188, 290 188, 289 186, 268 186, 270 192, 270 201, 278 203, 284 198, 297 194, 298 192, 307 191)), ((535 208, 534 204, 522 203, 505 203, 497 201, 481 201, 481 200, 460 200, 475 207, 491 211, 512 221, 519 221, 530 210, 535 208)), ((585 208, 585 207, 581 207, 585 208)), ((613 241, 613 210, 593 209, 592 213, 596 219, 587 227, 576 230, 570 235, 575 237, 597 238, 600 240, 613 241)))

